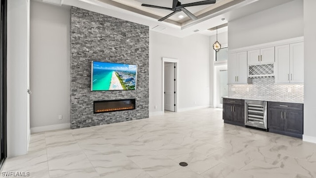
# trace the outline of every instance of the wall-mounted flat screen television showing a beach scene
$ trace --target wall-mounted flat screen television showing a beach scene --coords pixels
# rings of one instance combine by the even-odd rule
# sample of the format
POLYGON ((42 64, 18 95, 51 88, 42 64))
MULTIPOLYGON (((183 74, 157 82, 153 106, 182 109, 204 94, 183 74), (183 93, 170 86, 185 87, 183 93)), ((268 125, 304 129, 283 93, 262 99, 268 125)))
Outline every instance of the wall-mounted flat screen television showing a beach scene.
POLYGON ((137 65, 91 62, 91 91, 135 90, 137 65))

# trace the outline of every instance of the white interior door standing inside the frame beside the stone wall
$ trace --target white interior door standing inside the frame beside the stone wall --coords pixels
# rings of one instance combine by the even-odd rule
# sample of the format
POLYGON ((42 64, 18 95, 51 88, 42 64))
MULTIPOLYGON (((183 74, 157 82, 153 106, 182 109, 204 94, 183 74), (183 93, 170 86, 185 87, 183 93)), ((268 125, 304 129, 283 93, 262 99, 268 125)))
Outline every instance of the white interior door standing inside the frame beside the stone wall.
POLYGON ((164 110, 175 111, 175 64, 164 64, 164 110))

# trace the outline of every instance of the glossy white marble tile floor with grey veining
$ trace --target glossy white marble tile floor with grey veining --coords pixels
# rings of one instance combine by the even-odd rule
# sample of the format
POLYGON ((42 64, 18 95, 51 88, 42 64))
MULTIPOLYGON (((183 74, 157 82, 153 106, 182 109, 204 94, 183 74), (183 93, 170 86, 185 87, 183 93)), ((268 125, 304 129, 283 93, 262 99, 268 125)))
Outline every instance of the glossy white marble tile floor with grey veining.
POLYGON ((316 144, 224 124, 222 110, 207 108, 32 134, 29 153, 8 158, 2 171, 31 178, 316 178, 316 144))

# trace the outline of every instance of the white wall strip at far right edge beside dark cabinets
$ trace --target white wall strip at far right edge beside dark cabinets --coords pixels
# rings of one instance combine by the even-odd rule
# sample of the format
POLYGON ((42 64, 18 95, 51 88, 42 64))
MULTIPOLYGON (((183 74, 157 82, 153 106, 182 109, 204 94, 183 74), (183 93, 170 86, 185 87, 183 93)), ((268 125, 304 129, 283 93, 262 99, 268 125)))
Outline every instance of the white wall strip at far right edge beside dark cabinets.
POLYGON ((303 140, 316 143, 316 0, 304 0, 304 135, 303 140))

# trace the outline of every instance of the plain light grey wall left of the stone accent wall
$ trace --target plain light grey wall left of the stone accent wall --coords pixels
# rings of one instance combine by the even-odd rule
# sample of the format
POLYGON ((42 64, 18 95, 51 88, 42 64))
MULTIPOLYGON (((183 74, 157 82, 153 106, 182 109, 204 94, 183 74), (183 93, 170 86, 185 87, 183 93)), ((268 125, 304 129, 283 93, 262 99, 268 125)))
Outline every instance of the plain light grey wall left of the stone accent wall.
POLYGON ((57 124, 70 127, 69 6, 31 1, 30 60, 31 130, 57 124))

